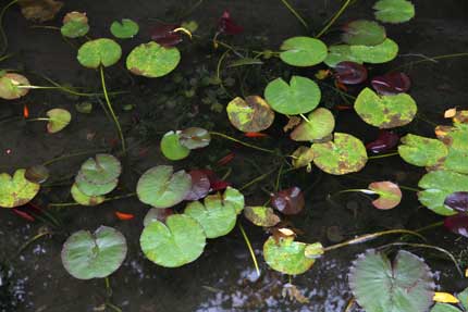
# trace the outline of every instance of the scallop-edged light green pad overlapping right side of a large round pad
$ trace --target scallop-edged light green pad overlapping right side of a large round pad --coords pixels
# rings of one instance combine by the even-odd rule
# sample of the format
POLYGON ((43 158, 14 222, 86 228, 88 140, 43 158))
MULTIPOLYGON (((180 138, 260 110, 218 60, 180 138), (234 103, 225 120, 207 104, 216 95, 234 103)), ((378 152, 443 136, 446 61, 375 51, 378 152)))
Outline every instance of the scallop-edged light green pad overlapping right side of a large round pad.
POLYGON ((207 238, 217 238, 229 234, 237 221, 234 207, 224 202, 219 194, 206 197, 204 203, 190 202, 185 208, 184 214, 192 216, 201 225, 207 238))

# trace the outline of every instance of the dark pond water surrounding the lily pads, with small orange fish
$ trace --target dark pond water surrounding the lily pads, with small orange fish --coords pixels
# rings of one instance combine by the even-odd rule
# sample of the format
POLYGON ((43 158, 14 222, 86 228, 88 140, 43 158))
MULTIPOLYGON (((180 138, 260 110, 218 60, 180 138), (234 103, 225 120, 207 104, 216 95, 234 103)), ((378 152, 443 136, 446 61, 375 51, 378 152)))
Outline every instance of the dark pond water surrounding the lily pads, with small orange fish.
MULTIPOLYGON (((16 213, 0 209, 0 311, 365 311, 358 304, 349 304, 353 292, 348 273, 357 255, 395 241, 420 242, 408 238, 410 235, 403 238, 390 235, 349 245, 328 251, 305 274, 290 277, 272 270, 263 259, 263 244, 272 233, 278 235, 278 229, 255 226, 239 216, 237 225, 227 235, 207 240, 205 251, 196 261, 174 269, 162 267, 149 261, 141 251, 139 237, 150 207, 134 196, 140 175, 157 165, 173 165, 176 170, 187 171, 213 170, 220 179, 241 189, 250 207, 263 205, 275 190, 299 187, 306 202, 304 210, 297 215, 278 214, 282 217, 282 227, 293 229, 297 239, 305 242, 333 246, 364 234, 415 230, 431 224, 440 225, 444 220, 422 205, 416 192, 410 190, 418 187, 419 179, 426 174, 424 167, 405 162, 397 153, 370 158, 361 171, 346 175, 328 174, 315 165, 310 173, 305 167, 291 170, 291 159, 282 153, 291 154, 299 143, 283 132, 288 121, 285 115, 280 115, 275 109, 275 121, 264 132, 244 134, 230 123, 225 107, 235 97, 262 96, 266 86, 278 77, 300 75, 316 79, 319 70, 325 74, 328 67, 323 64, 288 66, 271 51, 278 51, 291 37, 313 37, 346 1, 64 2, 56 18, 49 22, 27 21, 16 4, 10 7, 3 17, 2 26, 8 38, 5 50, 11 55, 1 61, 1 68, 22 73, 34 85, 58 83, 75 91, 98 96, 79 97, 56 88, 32 89, 13 101, 0 99, 0 172, 13 174, 16 169, 46 162, 49 162, 50 171, 49 179, 33 201, 16 209, 16 213), (304 17, 311 30, 305 29, 285 3, 304 17), (87 39, 71 39, 60 34, 62 16, 72 11, 86 12, 90 25, 87 39, 112 38, 110 25, 122 18, 132 18, 139 25, 138 34, 132 39, 115 39, 122 47, 123 58, 102 72, 125 137, 125 157, 121 153, 121 138, 114 120, 101 93, 99 70, 86 68, 76 60, 78 48, 87 39), (224 33, 213 38, 223 12, 229 12, 232 18, 224 21, 229 23, 224 27, 239 34, 224 33), (183 42, 177 48, 182 60, 173 72, 161 78, 147 78, 125 68, 124 58, 135 46, 150 41, 155 33, 162 32, 161 25, 178 25, 184 21, 195 21, 199 27, 193 32, 192 39, 187 34, 180 34, 183 42), (236 27, 242 27, 242 32, 236 27), (263 57, 269 50, 272 58, 254 61, 250 58, 247 63, 236 63, 238 54, 251 57, 255 53, 250 51, 255 50, 263 52, 263 57), (72 115, 71 123, 61 132, 49 134, 44 122, 29 122, 46 116, 56 108, 65 109, 72 115), (78 112, 83 108, 93 108, 93 111, 78 112), (210 146, 190 151, 184 160, 170 161, 161 153, 161 138, 170 130, 188 127, 212 132, 210 146), (114 200, 96 207, 60 204, 73 203, 70 187, 82 164, 96 153, 104 152, 121 155, 123 171, 112 195, 114 200), (74 157, 67 157, 70 154, 74 157), (374 198, 369 195, 343 192, 366 189, 372 182, 385 180, 401 185, 403 191, 402 202, 391 210, 375 209, 372 205, 374 198), (81 229, 94 232, 100 225, 121 232, 127 245, 122 266, 106 279, 110 287, 103 278, 74 278, 61 260, 62 246, 71 234, 81 229), (243 230, 251 242, 260 276, 243 230), (47 234, 41 235, 44 233, 47 234), (32 240, 37 235, 40 237, 32 240), (300 296, 285 296, 291 285, 297 287, 300 296)), ((327 45, 340 42, 340 25, 373 18, 375 1, 350 2, 322 38, 327 45)), ((408 92, 418 103, 418 113, 411 123, 396 128, 395 133, 401 137, 411 133, 433 138, 434 126, 451 124, 444 118, 444 112, 452 108, 467 109, 468 3, 464 0, 412 2, 416 16, 410 22, 385 24, 386 36, 399 46, 398 57, 385 64, 367 64, 367 71, 370 77, 391 71, 402 71, 410 77, 408 92), (447 57, 436 58, 440 55, 447 57)), ((7 4, 8 1, 2 1, 2 7, 7 4)), ((106 51, 111 53, 111 48, 107 47, 106 51)), ((375 140, 379 128, 365 123, 355 110, 346 107, 349 97, 355 98, 362 86, 370 84, 334 85, 334 78, 330 76, 317 80, 322 90, 321 107, 330 109, 336 118, 334 130, 352 134, 365 143, 375 140)), ((382 154, 393 151, 396 151, 395 147, 382 154)), ((466 163, 467 159, 460 162, 466 163)), ((177 205, 176 211, 183 211, 184 207, 177 205)), ((431 227, 421 234, 424 244, 452 253, 463 270, 468 266, 466 237, 443 226, 431 227)), ((190 239, 196 241, 196 237, 190 239)), ((468 286, 468 279, 460 277, 443 252, 415 246, 402 248, 426 260, 434 273, 436 291, 454 294, 468 286)))

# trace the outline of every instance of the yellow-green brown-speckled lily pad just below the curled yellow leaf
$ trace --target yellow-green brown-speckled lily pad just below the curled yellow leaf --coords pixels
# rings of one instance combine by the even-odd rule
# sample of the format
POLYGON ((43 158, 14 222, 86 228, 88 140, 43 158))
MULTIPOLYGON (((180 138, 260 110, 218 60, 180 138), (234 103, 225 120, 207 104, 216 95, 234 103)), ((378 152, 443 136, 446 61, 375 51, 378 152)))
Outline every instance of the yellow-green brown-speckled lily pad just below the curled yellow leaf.
POLYGON ((149 78, 171 73, 181 62, 177 48, 164 48, 157 42, 141 43, 130 52, 126 67, 135 75, 149 78))

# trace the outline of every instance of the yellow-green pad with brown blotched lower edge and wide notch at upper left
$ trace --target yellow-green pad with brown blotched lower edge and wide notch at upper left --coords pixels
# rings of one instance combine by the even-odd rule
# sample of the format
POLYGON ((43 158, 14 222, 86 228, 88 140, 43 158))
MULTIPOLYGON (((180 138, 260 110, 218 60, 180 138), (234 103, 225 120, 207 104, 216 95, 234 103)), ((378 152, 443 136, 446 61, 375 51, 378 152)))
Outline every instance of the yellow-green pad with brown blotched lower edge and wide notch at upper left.
POLYGON ((354 108, 362 121, 385 129, 409 124, 418 111, 415 100, 407 93, 379 96, 369 88, 359 93, 354 108))

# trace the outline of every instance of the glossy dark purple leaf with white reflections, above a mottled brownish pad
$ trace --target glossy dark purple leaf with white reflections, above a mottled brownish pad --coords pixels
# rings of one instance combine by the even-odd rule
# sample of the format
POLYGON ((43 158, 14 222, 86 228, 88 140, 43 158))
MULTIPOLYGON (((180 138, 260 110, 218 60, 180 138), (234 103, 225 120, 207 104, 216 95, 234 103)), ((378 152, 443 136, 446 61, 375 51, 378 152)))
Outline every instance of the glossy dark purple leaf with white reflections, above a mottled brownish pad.
POLYGON ((272 195, 271 205, 284 214, 298 214, 306 205, 304 194, 297 186, 272 195))

